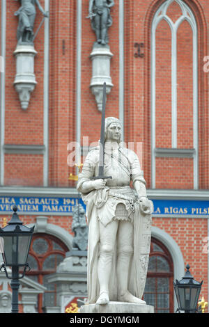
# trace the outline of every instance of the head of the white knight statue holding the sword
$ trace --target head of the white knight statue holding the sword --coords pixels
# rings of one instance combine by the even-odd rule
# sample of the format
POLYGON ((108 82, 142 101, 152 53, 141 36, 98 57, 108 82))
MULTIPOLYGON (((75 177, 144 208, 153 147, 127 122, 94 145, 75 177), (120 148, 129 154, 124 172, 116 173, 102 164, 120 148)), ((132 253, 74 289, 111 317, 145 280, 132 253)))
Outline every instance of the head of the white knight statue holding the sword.
POLYGON ((121 141, 121 122, 118 118, 107 117, 105 118, 104 128, 105 141, 115 141, 120 143, 121 141))

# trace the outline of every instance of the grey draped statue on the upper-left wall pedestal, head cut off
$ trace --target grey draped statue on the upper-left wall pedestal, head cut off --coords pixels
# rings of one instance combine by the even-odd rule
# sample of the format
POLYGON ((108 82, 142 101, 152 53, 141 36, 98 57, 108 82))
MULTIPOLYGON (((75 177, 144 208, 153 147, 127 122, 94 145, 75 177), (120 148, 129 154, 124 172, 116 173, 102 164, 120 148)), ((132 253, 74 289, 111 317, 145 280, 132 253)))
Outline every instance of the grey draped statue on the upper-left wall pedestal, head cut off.
MULTIPOLYGON (((18 0, 15 0, 18 1, 18 0)), ((19 24, 17 27, 17 44, 33 44, 33 26, 36 19, 36 5, 45 17, 45 13, 38 0, 21 0, 21 7, 15 12, 15 16, 19 16, 19 24)))

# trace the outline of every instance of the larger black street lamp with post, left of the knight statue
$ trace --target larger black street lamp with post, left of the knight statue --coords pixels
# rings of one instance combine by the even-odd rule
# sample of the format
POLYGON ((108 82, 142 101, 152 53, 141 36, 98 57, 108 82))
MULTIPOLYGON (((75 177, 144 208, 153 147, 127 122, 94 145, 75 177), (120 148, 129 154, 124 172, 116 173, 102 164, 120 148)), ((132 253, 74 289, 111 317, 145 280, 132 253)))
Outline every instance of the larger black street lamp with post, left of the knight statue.
POLYGON ((0 252, 3 255, 3 264, 1 271, 6 273, 6 277, 11 279, 12 296, 12 313, 18 313, 18 289, 20 287, 19 279, 23 278, 25 272, 30 270, 27 259, 33 228, 23 225, 22 221, 16 214, 17 206, 13 206, 13 216, 5 228, 0 228, 0 252), (6 266, 12 267, 12 276, 8 276, 6 266), (19 268, 24 267, 22 276, 19 276, 19 268))

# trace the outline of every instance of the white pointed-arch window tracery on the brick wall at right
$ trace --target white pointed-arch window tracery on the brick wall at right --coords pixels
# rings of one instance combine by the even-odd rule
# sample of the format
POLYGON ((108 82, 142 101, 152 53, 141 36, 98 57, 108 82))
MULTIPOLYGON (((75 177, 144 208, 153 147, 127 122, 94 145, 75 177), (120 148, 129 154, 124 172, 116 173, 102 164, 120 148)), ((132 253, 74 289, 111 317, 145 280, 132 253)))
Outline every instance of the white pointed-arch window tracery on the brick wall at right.
MULTIPOLYGON (((196 19, 194 13, 187 6, 183 0, 166 0, 157 9, 151 26, 151 187, 155 189, 155 158, 158 157, 157 149, 155 146, 155 65, 156 65, 156 47, 155 47, 155 32, 157 26, 162 20, 165 20, 171 29, 171 102, 172 102, 172 152, 171 157, 179 157, 178 144, 177 144, 177 31, 178 27, 185 20, 192 28, 193 34, 193 163, 194 163, 194 189, 199 188, 199 138, 198 138, 198 31, 196 19), (173 21, 167 16, 167 10, 171 3, 178 3, 182 10, 181 17, 173 23, 173 21)), ((170 157, 171 149, 160 149, 160 152, 164 152, 164 157, 170 157)), ((185 157, 187 157, 187 149, 185 149, 185 157)), ((180 157, 184 157, 184 152, 180 150, 180 157)))

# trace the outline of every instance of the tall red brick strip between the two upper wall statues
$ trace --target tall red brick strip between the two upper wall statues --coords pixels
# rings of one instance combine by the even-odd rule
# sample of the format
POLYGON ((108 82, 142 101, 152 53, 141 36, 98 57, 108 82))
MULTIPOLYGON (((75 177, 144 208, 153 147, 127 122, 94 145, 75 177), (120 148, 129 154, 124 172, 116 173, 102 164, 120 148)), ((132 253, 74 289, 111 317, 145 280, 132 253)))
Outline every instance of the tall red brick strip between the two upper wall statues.
POLYGON ((49 185, 68 186, 67 145, 75 141, 77 8, 72 0, 50 3, 49 185))

